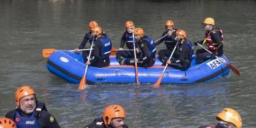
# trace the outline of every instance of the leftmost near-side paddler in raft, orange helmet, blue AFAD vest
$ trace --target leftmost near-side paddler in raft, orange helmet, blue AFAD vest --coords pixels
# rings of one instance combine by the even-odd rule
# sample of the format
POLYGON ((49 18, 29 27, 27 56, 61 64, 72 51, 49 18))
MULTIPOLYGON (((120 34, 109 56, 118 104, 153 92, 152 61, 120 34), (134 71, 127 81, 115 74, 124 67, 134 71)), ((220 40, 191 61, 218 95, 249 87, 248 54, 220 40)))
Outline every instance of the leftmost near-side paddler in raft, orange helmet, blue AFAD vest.
POLYGON ((85 58, 86 64, 92 67, 106 67, 109 66, 109 55, 111 53, 112 42, 108 36, 103 36, 100 26, 92 28, 93 35, 93 50, 90 59, 85 58))

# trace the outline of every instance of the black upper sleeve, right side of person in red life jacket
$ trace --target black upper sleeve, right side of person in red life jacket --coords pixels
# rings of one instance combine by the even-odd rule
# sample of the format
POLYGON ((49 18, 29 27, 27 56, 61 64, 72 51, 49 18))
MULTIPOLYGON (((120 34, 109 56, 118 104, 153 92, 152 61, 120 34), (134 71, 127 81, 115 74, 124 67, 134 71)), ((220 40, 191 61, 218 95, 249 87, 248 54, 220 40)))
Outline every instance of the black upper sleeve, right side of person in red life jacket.
POLYGON ((218 43, 218 48, 216 50, 216 52, 218 53, 218 56, 221 56, 221 54, 223 54, 223 43, 221 41, 221 37, 220 37, 220 33, 218 31, 214 31, 211 33, 211 37, 213 42, 217 42, 218 43))

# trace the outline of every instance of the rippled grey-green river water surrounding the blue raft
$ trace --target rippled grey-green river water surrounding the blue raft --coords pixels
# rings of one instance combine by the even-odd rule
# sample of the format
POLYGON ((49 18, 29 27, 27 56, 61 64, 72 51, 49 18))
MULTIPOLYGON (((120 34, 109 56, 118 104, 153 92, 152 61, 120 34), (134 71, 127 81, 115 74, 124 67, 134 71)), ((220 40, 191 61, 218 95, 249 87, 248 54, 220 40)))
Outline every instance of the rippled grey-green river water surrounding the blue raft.
POLYGON ((15 108, 14 92, 27 84, 61 127, 83 127, 110 104, 124 106, 130 127, 216 124, 215 115, 226 107, 241 114, 243 127, 256 127, 256 1, 2 0, 0 17, 0 116, 15 108), (231 72, 197 85, 89 85, 80 91, 51 74, 41 56, 44 48, 77 48, 91 20, 100 23, 118 48, 126 20, 156 40, 171 19, 189 40, 197 41, 203 38, 200 23, 206 17, 223 30, 224 54, 240 77, 231 72))

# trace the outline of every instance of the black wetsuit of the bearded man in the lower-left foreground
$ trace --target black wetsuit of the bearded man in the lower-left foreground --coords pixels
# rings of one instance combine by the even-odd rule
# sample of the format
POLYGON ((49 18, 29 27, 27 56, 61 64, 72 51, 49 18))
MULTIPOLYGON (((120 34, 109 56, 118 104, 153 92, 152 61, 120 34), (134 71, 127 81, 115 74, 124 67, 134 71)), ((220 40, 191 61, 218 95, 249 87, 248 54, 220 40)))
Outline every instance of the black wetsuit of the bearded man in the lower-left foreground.
MULTIPOLYGON (((43 103, 43 105, 45 105, 45 104, 43 103)), ((40 108, 40 107, 38 107, 38 105, 36 105, 36 108, 40 108)), ((17 113, 19 113, 19 114, 21 113, 20 109, 14 109, 12 111, 9 111, 9 113, 7 113, 5 115, 5 117, 12 119, 16 125, 19 125, 19 123, 21 123, 21 122, 17 122, 17 121, 19 121, 19 119, 16 119, 16 117, 15 117, 15 114, 17 114, 17 113)), ((40 128, 59 128, 60 127, 57 120, 53 117, 53 115, 48 113, 46 111, 46 109, 41 108, 41 111, 35 111, 33 116, 35 117, 36 121, 38 122, 40 128)), ((27 124, 27 122, 22 122, 22 123, 27 124)), ((29 126, 29 124, 28 124, 28 126, 29 126)))

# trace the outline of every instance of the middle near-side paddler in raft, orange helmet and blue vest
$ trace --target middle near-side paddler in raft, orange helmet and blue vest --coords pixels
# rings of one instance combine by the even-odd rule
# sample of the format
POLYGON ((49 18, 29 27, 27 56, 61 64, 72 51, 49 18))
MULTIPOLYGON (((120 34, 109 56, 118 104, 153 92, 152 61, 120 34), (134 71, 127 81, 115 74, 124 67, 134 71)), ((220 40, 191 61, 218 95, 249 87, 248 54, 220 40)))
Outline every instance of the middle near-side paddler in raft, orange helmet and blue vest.
POLYGON ((135 41, 138 43, 136 48, 136 58, 126 59, 125 64, 135 65, 139 67, 151 67, 155 64, 156 47, 155 43, 150 36, 144 35, 142 28, 135 28, 134 30, 135 41))

